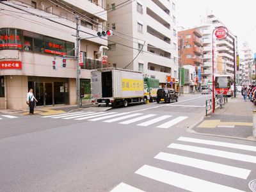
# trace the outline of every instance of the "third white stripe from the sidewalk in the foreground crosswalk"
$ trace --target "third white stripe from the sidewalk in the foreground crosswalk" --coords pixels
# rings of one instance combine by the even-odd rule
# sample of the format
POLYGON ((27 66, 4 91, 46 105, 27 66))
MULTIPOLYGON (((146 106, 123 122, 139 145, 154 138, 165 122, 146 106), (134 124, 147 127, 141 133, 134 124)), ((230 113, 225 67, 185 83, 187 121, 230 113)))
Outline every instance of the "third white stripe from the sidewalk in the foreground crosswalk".
POLYGON ((194 159, 191 157, 183 157, 183 156, 177 156, 174 154, 167 154, 164 152, 160 152, 154 158, 161 159, 163 161, 168 161, 171 163, 192 166, 192 167, 199 168, 202 170, 207 170, 210 172, 221 173, 221 174, 229 175, 232 177, 238 177, 241 179, 247 179, 247 177, 250 175, 250 172, 251 172, 251 170, 246 170, 243 168, 237 168, 234 166, 228 166, 228 165, 220 164, 220 163, 212 163, 209 161, 204 161, 201 159, 194 159))

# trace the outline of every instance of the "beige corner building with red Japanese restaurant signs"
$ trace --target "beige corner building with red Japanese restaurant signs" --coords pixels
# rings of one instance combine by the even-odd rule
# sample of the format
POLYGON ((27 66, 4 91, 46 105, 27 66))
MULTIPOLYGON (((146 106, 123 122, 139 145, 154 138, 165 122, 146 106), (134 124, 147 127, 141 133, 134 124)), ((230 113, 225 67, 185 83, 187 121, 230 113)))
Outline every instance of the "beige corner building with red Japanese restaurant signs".
MULTIPOLYGON (((104 0, 20 0, 0 2, 0 108, 24 109, 29 88, 37 106, 76 104, 76 16, 81 38, 106 25, 104 0), (61 58, 67 67, 61 67, 61 58), (54 70, 52 61, 56 58, 54 70)), ((90 94, 90 70, 102 68, 102 38, 81 40, 81 95, 90 94)))

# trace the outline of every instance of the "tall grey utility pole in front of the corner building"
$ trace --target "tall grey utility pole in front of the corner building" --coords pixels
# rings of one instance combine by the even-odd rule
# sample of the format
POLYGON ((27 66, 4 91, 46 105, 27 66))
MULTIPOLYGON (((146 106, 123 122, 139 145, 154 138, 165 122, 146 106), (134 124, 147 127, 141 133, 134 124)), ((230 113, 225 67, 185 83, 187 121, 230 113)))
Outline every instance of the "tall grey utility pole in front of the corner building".
POLYGON ((80 70, 79 70, 79 17, 76 17, 76 97, 77 97, 77 108, 80 106, 80 70))

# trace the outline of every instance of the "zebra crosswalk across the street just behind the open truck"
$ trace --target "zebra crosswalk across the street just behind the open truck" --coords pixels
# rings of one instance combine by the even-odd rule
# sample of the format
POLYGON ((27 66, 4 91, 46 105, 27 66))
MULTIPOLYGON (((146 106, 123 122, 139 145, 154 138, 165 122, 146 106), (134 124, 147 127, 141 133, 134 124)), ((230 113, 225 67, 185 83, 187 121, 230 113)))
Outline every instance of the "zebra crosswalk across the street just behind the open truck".
POLYGON ((93 112, 93 111, 80 111, 76 113, 65 113, 59 115, 41 116, 42 118, 54 118, 65 120, 88 120, 91 122, 102 121, 106 123, 116 122, 118 124, 135 124, 141 127, 154 126, 157 128, 168 129, 175 124, 179 124, 186 120, 188 116, 172 115, 157 115, 157 114, 143 114, 143 113, 118 113, 118 112, 93 112))

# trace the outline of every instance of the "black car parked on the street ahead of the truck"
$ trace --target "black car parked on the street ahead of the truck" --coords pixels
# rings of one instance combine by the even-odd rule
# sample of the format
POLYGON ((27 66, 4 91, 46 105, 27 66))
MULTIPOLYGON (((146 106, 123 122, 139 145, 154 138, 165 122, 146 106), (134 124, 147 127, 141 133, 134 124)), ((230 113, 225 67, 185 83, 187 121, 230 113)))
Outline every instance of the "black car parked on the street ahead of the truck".
POLYGON ((173 89, 167 89, 167 88, 160 88, 157 90, 157 99, 156 102, 172 102, 173 100, 176 100, 178 102, 178 92, 175 92, 173 89))

